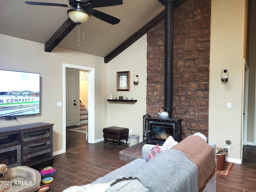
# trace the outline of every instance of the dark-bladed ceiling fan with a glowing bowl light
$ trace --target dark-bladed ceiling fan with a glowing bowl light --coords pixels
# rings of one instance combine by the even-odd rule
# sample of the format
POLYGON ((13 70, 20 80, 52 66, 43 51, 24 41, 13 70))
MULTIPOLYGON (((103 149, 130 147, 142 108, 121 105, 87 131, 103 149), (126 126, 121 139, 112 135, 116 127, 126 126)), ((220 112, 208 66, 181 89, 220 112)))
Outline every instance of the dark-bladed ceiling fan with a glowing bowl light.
POLYGON ((106 6, 114 6, 114 5, 121 5, 123 4, 122 0, 69 0, 69 6, 66 4, 57 4, 57 3, 46 3, 46 2, 32 2, 32 1, 25 1, 26 4, 30 5, 44 5, 44 6, 62 6, 62 7, 73 7, 69 9, 68 22, 75 22, 76 24, 80 25, 90 18, 90 15, 99 18, 105 22, 110 24, 118 24, 120 19, 106 14, 104 12, 100 12, 93 8, 96 7, 106 7, 106 6), (72 21, 71 21, 72 20, 72 21))

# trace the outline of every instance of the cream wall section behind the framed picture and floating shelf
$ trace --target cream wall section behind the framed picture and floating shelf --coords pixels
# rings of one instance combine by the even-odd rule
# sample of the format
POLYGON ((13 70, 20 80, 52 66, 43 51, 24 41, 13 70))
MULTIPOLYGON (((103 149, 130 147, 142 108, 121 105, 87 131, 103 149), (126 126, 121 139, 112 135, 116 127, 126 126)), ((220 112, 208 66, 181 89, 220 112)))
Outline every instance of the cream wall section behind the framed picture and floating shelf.
MULTIPOLYGON (((123 96, 138 100, 130 102, 108 102, 108 126, 132 129, 132 134, 142 138, 143 115, 146 114, 147 85, 147 36, 144 35, 124 52, 108 63, 108 98, 123 96), (116 90, 116 72, 130 71, 130 91, 116 90), (133 84, 133 76, 139 76, 138 85, 133 84)), ((130 134, 131 135, 131 134, 130 134)))

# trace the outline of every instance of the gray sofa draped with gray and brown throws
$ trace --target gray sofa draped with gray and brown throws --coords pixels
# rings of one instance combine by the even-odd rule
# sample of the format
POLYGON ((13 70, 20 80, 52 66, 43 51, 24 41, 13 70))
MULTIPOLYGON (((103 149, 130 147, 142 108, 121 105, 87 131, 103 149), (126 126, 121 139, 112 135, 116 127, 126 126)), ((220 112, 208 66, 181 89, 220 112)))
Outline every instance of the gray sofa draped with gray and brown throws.
MULTIPOLYGON (((200 138, 199 140, 202 139, 200 138)), ((207 146, 206 148, 213 150, 210 158, 214 161, 214 170, 210 176, 208 174, 208 176, 203 175, 200 177, 202 170, 208 169, 208 164, 210 163, 208 159, 204 160, 209 155, 206 155, 202 148, 198 147, 197 141, 198 136, 192 136, 188 148, 184 147, 185 142, 183 142, 182 146, 181 141, 176 145, 177 147, 174 146, 176 149, 173 149, 173 147, 170 150, 163 151, 148 162, 146 162, 146 157, 154 145, 145 144, 142 148, 142 158, 138 158, 106 174, 104 177, 98 178, 92 184, 77 186, 78 188, 73 186, 64 190, 64 192, 72 190, 85 192, 90 191, 91 188, 92 191, 97 190, 97 192, 216 192, 216 143, 210 142, 207 144, 205 141, 205 144, 203 143, 204 147, 202 148, 207 146), (184 155, 186 152, 181 152, 184 148, 190 154, 184 155), (194 160, 190 160, 187 156, 192 156, 193 159, 200 159, 202 165, 199 166, 203 168, 198 168, 198 164, 192 162, 194 160), (131 180, 128 180, 129 178, 131 180), (113 184, 116 180, 122 181, 113 184), (97 186, 100 186, 101 189, 97 188, 97 186)))

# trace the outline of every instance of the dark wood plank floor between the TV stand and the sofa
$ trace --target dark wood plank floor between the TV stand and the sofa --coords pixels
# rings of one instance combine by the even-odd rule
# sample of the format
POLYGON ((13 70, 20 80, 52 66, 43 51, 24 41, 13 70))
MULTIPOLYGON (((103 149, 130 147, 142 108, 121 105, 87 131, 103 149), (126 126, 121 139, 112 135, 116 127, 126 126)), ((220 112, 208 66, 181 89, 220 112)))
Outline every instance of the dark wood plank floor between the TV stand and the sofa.
MULTIPOLYGON (((86 134, 67 130, 66 153, 54 156, 52 167, 56 169, 56 175, 48 192, 62 192, 69 186, 89 184, 124 166, 128 162, 119 160, 119 151, 128 146, 121 142, 118 147, 117 141, 112 140, 107 140, 106 144, 103 141, 88 144, 86 134)), ((36 169, 41 171, 44 167, 36 169)))

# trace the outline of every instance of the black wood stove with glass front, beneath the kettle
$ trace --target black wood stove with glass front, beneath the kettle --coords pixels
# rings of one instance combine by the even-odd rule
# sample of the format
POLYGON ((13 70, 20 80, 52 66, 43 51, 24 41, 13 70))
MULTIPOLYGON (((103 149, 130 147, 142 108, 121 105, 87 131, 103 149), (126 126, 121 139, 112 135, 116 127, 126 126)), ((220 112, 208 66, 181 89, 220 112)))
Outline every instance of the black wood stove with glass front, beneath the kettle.
POLYGON ((172 136, 175 141, 181 141, 181 121, 174 118, 148 117, 144 125, 144 140, 149 144, 164 144, 165 140, 172 136))

